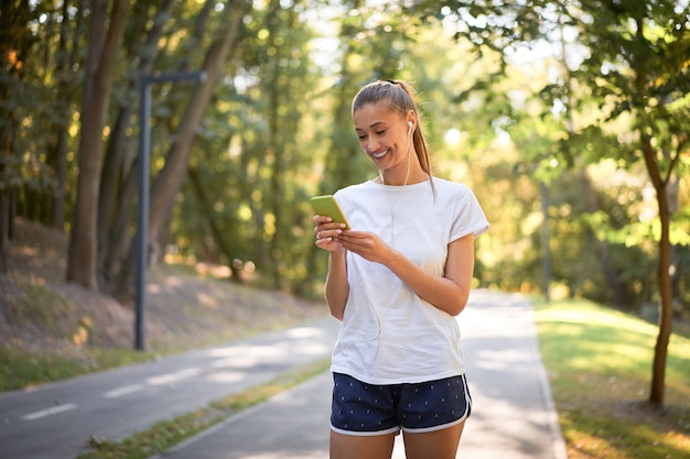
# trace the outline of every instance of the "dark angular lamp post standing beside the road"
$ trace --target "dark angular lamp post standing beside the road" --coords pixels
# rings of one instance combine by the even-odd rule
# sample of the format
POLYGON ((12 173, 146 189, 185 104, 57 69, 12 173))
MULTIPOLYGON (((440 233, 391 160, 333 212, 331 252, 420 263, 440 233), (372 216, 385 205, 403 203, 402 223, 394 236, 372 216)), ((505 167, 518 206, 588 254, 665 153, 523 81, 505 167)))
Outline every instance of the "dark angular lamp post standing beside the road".
POLYGON ((144 304, 149 256, 149 175, 151 164, 151 85, 168 81, 206 80, 205 72, 174 72, 168 74, 143 74, 139 78, 139 212, 137 217, 137 296, 134 317, 134 349, 144 350, 144 304))

